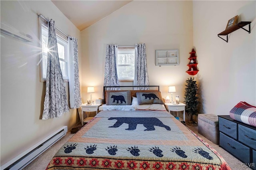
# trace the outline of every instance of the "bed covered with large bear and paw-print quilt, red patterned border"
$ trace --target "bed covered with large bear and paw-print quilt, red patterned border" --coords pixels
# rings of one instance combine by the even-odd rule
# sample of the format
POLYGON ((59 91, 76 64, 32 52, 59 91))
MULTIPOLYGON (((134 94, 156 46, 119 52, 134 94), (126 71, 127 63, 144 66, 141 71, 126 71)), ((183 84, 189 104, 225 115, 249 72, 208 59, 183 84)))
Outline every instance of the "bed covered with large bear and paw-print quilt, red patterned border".
MULTIPOLYGON (((110 95, 104 99, 112 100, 106 103, 116 103, 118 98, 115 100, 111 94, 116 91, 104 94, 108 92, 110 95)), ((159 87, 153 91, 132 90, 128 96, 130 105, 138 95, 154 102, 152 95, 151 99, 143 95, 146 92, 160 98, 159 87)), ((122 92, 124 96, 125 93, 122 92)), ((128 103, 127 98, 120 98, 118 103, 121 101, 128 103)), ((46 169, 230 170, 214 148, 170 115, 163 105, 156 108, 100 111, 58 150, 46 169)))

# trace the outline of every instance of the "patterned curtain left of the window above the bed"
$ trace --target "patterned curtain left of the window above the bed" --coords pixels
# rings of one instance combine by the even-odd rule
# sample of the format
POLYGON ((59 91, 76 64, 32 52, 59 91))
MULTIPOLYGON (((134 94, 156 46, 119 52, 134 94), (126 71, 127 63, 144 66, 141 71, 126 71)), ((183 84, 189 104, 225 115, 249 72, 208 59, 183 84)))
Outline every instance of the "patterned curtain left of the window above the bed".
MULTIPOLYGON (((104 86, 119 86, 118 75, 116 70, 116 55, 117 45, 108 44, 106 47, 104 86)), ((106 90, 120 90, 120 87, 107 88, 106 90)))

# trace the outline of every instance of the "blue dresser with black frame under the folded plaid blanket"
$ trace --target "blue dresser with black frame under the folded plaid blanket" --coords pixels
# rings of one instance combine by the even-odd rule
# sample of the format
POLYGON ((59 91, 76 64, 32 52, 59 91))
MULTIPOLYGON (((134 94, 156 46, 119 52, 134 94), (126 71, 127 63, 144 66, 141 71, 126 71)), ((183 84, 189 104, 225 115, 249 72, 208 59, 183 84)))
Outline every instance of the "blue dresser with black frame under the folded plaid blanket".
POLYGON ((220 147, 256 170, 256 127, 235 121, 229 115, 219 117, 220 147))

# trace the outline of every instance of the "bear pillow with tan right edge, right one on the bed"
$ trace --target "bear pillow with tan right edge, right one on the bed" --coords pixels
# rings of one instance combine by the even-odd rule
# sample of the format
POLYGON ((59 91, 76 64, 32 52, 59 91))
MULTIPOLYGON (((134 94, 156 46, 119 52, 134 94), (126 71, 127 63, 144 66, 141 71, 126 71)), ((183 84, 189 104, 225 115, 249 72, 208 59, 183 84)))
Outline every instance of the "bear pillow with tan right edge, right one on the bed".
POLYGON ((160 91, 153 92, 136 92, 136 97, 138 99, 139 105, 148 104, 162 104, 164 105, 164 100, 162 98, 160 91))

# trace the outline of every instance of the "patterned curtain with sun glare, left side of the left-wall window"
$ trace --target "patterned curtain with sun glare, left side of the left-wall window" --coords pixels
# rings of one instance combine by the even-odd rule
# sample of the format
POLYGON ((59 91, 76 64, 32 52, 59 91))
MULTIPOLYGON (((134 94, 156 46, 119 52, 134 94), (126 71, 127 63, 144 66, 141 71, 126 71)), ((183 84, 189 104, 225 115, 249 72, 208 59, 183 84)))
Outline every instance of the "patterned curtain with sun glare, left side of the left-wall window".
POLYGON ((42 119, 60 117, 69 111, 64 80, 60 69, 55 23, 48 23, 48 56, 46 73, 46 94, 42 119))

